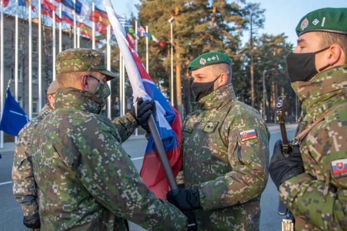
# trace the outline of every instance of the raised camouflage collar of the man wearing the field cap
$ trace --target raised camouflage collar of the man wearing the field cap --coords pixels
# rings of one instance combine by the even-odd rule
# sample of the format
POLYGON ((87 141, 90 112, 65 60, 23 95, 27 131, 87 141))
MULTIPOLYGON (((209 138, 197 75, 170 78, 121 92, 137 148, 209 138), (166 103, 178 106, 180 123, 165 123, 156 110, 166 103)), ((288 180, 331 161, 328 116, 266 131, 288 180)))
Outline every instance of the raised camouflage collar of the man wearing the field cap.
POLYGON ((99 114, 102 102, 92 93, 67 87, 56 92, 55 109, 69 108, 99 114))

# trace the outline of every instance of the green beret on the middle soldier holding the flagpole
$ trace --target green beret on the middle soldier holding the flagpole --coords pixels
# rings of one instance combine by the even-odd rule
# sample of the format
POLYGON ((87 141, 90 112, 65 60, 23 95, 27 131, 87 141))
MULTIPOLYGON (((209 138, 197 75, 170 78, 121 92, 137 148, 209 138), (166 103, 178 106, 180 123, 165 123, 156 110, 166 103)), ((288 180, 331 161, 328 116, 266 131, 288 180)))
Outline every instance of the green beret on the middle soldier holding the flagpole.
POLYGON ((226 54, 221 52, 207 52, 192 60, 188 65, 188 69, 190 71, 195 71, 208 65, 222 63, 231 65, 232 60, 226 54))

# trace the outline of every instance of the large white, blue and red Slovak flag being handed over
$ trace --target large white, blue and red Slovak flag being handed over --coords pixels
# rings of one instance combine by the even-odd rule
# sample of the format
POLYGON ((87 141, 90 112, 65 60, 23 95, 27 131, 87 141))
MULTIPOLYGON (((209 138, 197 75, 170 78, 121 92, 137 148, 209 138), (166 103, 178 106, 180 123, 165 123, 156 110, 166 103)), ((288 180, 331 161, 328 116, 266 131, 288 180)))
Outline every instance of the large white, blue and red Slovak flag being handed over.
MULTIPOLYGON (((136 105, 136 99, 138 97, 142 97, 143 100, 155 100, 157 107, 157 128, 163 141, 173 175, 176 177, 182 167, 181 117, 149 77, 138 53, 126 37, 126 32, 121 26, 110 0, 105 0, 105 7, 124 58, 124 64, 133 90, 134 105, 136 105)), ((152 136, 148 140, 140 176, 158 198, 166 199, 169 186, 152 136)))

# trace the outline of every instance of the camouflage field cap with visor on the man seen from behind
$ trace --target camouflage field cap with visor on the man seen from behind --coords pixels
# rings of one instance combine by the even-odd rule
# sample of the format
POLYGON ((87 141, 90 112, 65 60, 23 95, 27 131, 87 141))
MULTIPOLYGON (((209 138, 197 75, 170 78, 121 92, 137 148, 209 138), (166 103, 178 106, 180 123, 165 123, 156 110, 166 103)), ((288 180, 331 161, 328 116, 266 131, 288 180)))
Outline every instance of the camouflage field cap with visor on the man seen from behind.
POLYGON ((104 53, 87 48, 73 48, 60 52, 55 61, 56 73, 99 71, 112 80, 117 75, 107 70, 104 53))

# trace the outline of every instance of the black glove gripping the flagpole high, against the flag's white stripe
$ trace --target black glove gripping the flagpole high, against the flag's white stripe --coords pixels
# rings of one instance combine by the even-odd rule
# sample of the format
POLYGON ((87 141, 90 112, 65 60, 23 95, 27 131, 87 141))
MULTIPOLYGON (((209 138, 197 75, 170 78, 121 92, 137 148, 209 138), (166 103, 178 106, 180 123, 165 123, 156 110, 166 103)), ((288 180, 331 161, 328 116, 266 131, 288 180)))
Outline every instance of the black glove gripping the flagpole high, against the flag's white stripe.
POLYGON ((148 127, 148 118, 150 114, 153 115, 153 118, 156 119, 156 103, 154 100, 146 100, 143 101, 142 98, 138 98, 137 100, 137 113, 135 113, 135 108, 132 107, 130 114, 136 118, 138 124, 146 130, 148 134, 150 134, 148 127))

